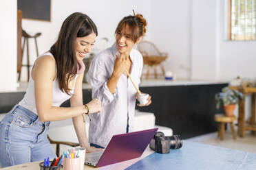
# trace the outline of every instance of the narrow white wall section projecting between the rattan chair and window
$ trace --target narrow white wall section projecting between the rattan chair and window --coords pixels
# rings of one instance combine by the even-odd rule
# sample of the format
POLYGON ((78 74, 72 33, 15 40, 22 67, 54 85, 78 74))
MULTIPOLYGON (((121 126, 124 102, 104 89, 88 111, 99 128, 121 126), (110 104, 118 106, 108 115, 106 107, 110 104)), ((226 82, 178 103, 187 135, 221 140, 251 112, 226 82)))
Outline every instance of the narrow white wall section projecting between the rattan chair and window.
POLYGON ((217 73, 217 1, 193 0, 191 78, 215 80, 217 73))

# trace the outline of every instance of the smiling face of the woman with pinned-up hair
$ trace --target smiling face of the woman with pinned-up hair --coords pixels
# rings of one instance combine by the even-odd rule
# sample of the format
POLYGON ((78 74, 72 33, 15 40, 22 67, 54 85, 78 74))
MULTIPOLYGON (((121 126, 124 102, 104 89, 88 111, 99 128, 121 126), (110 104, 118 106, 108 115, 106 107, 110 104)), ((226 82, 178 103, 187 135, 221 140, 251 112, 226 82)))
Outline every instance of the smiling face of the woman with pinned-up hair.
POLYGON ((136 44, 134 40, 131 38, 131 29, 129 25, 125 25, 121 30, 117 30, 116 32, 116 48, 118 49, 119 53, 130 53, 131 49, 136 44))

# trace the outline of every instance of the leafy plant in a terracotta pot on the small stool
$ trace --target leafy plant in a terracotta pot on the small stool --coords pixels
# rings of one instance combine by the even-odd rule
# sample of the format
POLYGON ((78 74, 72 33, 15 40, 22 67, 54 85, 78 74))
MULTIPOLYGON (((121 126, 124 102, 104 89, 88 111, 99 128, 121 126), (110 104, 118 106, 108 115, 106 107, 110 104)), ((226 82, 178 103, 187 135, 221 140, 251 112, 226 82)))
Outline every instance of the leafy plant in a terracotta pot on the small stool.
POLYGON ((220 104, 223 104, 226 116, 232 117, 239 99, 244 99, 244 95, 238 90, 231 90, 226 86, 222 88, 222 92, 215 95, 216 108, 220 109, 220 104))

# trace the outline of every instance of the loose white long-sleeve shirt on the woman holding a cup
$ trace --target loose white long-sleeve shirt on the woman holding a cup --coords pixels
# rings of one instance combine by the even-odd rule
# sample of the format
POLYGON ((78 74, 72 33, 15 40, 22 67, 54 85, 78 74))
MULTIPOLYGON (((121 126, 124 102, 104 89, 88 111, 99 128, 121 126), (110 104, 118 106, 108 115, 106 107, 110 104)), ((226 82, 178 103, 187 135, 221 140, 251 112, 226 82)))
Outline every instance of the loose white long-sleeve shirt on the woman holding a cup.
MULTIPOLYGON (((136 104, 136 88, 127 75, 123 73, 116 86, 114 95, 109 91, 107 82, 113 73, 116 60, 116 44, 100 52, 89 67, 88 78, 92 86, 92 99, 102 102, 102 111, 91 116, 89 124, 89 143, 107 147, 114 134, 123 134, 127 129, 129 117, 129 132, 134 130, 134 110, 136 104)), ((119 56, 119 55, 118 55, 119 56)), ((132 49, 130 53, 130 75, 138 86, 142 74, 143 58, 141 53, 132 49)))

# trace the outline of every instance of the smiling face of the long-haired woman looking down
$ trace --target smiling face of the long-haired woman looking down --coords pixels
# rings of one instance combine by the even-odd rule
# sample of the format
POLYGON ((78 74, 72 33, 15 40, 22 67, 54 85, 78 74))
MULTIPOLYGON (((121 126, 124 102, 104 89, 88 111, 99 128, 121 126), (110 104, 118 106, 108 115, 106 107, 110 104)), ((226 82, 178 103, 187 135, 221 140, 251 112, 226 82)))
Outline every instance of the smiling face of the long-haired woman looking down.
POLYGON ((75 53, 77 60, 83 60, 85 54, 92 50, 96 39, 96 34, 92 32, 88 36, 77 37, 75 42, 75 53))

